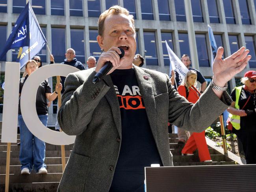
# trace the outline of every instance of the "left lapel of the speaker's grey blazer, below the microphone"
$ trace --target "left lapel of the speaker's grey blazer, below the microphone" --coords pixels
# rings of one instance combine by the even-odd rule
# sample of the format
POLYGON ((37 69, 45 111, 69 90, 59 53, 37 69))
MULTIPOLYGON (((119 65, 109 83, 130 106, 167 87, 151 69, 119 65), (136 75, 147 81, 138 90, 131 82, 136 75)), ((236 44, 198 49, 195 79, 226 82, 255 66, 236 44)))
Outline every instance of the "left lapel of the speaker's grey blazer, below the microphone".
POLYGON ((110 89, 105 94, 105 97, 108 100, 109 105, 111 106, 112 114, 114 117, 115 125, 117 126, 117 131, 119 133, 119 137, 122 138, 122 128, 121 128, 122 124, 121 124, 120 107, 119 107, 119 102, 117 99, 117 94, 115 93, 113 81, 112 81, 110 75, 105 76, 104 80, 110 86, 110 89))

